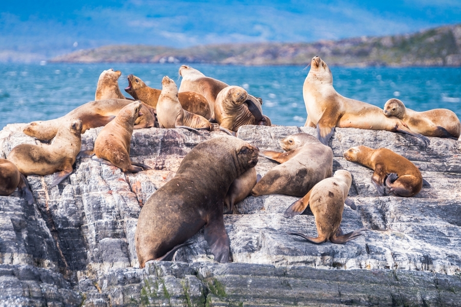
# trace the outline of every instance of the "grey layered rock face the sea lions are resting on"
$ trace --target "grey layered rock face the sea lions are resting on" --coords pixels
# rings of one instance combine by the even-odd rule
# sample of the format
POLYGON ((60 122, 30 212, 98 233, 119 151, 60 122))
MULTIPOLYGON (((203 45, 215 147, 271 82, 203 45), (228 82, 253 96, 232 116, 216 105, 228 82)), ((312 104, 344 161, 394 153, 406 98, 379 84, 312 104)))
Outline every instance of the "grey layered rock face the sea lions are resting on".
MULTIPOLYGON (((0 131, 0 158, 36 141, 12 124, 0 131)), ((82 135, 93 147, 101 128, 82 135)), ((282 151, 280 139, 310 127, 243 126, 238 137, 282 151)), ((461 295, 461 142, 424 144, 387 131, 337 128, 330 140, 333 171, 347 169, 349 196, 342 229, 369 230, 345 245, 313 245, 287 231, 316 236, 311 214, 284 218, 295 197, 248 196, 225 215, 233 262, 213 260, 203 230, 173 262, 137 268, 134 233, 142 204, 170 180, 181 159, 221 131, 134 130, 131 158, 151 166, 136 174, 77 160, 75 171, 50 188, 53 176, 29 176, 34 204, 0 196, 0 305, 458 305, 461 295), (356 145, 386 147, 418 166, 430 187, 413 198, 378 196, 372 170, 346 161, 356 145)), ((274 162, 260 157, 263 175, 274 162)))

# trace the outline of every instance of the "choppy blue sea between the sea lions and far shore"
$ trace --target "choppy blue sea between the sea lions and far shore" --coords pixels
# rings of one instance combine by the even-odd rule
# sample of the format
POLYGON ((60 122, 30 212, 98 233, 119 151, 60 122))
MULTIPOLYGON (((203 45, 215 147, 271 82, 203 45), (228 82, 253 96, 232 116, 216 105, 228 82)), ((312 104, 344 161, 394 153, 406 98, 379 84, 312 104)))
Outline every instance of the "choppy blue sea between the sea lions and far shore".
MULTIPOLYGON (((0 64, 0 128, 9 123, 48 120, 94 100, 103 70, 120 70, 120 90, 134 74, 146 84, 161 89, 163 76, 176 80, 179 64, 0 64)), ((240 85, 263 99, 263 113, 273 124, 302 126, 307 114, 302 87, 309 67, 245 67, 193 64, 206 76, 230 85, 240 85)), ((331 67, 333 86, 345 97, 379 107, 399 98, 408 108, 426 111, 448 108, 461 118, 460 68, 344 68, 331 67)))

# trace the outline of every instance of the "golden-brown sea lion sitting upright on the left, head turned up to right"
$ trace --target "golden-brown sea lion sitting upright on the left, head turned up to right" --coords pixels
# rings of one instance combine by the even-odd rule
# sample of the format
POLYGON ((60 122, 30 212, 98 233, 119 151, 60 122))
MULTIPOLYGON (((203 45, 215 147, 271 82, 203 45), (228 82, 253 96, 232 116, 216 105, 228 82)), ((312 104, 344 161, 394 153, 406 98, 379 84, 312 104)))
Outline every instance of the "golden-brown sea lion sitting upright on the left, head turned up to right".
POLYGON ((141 107, 142 103, 140 101, 124 106, 114 120, 102 128, 94 142, 94 153, 99 159, 93 160, 114 165, 123 172, 138 172, 143 169, 150 169, 147 165, 133 163, 130 160, 133 126, 138 116, 142 115, 140 113, 141 107))

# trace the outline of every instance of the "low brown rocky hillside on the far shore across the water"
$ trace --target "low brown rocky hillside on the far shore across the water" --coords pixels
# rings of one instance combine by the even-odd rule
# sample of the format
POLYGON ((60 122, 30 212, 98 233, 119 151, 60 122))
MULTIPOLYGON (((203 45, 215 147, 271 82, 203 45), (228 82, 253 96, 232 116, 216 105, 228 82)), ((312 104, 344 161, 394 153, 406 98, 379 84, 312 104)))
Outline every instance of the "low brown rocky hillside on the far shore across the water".
POLYGON ((418 33, 358 37, 314 43, 235 43, 172 49, 154 46, 105 46, 80 50, 51 62, 214 63, 306 65, 315 55, 341 66, 461 66, 461 25, 418 33))

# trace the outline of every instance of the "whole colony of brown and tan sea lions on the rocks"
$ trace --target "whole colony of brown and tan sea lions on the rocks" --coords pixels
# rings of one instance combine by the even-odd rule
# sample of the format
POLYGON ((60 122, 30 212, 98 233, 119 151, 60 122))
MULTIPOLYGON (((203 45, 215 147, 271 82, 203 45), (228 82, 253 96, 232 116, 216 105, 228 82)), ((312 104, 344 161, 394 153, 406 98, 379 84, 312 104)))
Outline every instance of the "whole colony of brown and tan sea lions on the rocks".
MULTIPOLYGON (((141 209, 135 238, 141 267, 149 260, 171 260, 174 252, 187 246, 186 240, 203 226, 205 239, 215 259, 227 262, 229 238, 222 215, 223 212, 232 213, 234 204, 250 193, 255 196, 284 193, 302 197, 286 210, 284 216, 301 214, 310 205, 316 218, 318 237, 292 233, 309 242, 322 243, 329 239, 343 244, 364 234, 366 229, 344 234, 340 227, 344 204, 353 209, 355 205, 347 198, 351 174, 347 170, 338 170, 331 177, 332 152, 328 140, 336 126, 402 132, 421 139, 426 146, 429 139, 424 135, 459 137, 459 119, 456 115, 453 117, 452 112, 448 112, 450 120, 438 118, 437 114, 442 114, 438 111, 430 112, 431 127, 426 127, 429 126, 428 121, 411 110, 407 109, 405 113, 403 103, 397 105, 401 109, 398 113, 395 111, 397 107, 392 108, 389 102, 383 111, 341 96, 332 86, 328 65, 318 56, 312 59, 303 86, 308 114, 305 126, 316 127, 317 139, 308 134, 284 138, 280 145, 286 152, 261 150, 259 154, 259 148, 233 137, 241 125, 271 124, 270 119, 263 115, 262 100, 238 86, 229 86, 182 65, 179 68, 182 76, 179 93, 174 81, 166 76, 162 90, 155 90, 142 89, 145 87, 142 80, 129 75, 129 86, 125 91, 134 99, 141 100, 133 102, 125 99, 119 91, 117 80, 120 75, 119 71, 112 69, 101 73, 95 97, 103 100, 82 104, 64 117, 28 124, 25 134, 39 140, 53 140, 50 144, 37 141, 37 145, 14 147, 8 159, 0 163, 2 186, 8 186, 1 192, 9 195, 17 187, 20 195, 32 202, 25 176, 54 173, 53 185, 57 185, 72 173, 76 159, 93 151, 99 157, 93 158, 95 163, 99 161, 131 172, 150 169, 148 165, 130 161, 133 129, 160 126, 186 128, 200 133, 197 129, 212 130, 213 124, 208 119, 217 121, 222 130, 219 133, 232 136, 204 141, 187 153, 176 176, 155 191, 141 209), (140 87, 134 84, 136 80, 140 87), (188 93, 187 98, 178 99, 178 96, 185 97, 181 95, 184 92, 188 93), (209 107, 203 107, 204 99, 209 107), (205 109, 207 118, 186 111, 185 106, 205 109), (158 113, 157 107, 160 107, 158 113), (442 133, 430 132, 434 130, 433 125, 442 133), (98 126, 104 128, 96 139, 95 149, 79 153, 81 133, 98 126), (454 132, 452 127, 455 127, 454 132), (429 132, 426 134, 426 131, 429 132), (103 153, 103 149, 107 148, 110 148, 108 153, 103 153), (254 168, 258 155, 280 163, 262 179, 254 168), (207 176, 207 173, 210 175, 207 176), (169 205, 165 207, 165 204, 169 205)), ((424 180, 410 161, 385 148, 363 147, 350 148, 344 152, 344 157, 375 171, 371 181, 380 194, 386 195, 387 190, 390 195, 409 197, 421 190, 424 180), (397 165, 396 161, 402 165, 397 165)))

